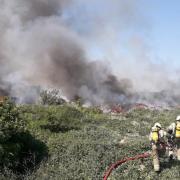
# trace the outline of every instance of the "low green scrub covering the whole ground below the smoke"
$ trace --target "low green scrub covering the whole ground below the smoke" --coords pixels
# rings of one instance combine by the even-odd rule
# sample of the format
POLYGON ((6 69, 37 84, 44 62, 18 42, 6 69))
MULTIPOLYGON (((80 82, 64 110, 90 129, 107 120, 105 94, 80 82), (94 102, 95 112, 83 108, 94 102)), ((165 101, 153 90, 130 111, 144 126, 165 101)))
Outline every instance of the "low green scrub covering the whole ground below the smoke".
MULTIPOLYGON (((0 106, 0 179, 99 180, 110 164, 150 150, 152 125, 168 126, 180 110, 133 110, 118 116, 95 108, 63 105, 0 106)), ((179 179, 180 163, 161 159, 128 162, 114 170, 115 179, 179 179)))

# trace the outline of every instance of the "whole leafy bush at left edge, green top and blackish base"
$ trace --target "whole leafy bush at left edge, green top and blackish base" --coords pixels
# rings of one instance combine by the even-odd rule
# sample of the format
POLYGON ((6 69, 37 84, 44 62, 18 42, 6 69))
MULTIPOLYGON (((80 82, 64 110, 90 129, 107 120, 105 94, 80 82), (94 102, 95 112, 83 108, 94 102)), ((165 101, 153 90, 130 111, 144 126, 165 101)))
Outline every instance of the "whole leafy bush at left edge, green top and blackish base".
POLYGON ((27 169, 29 172, 47 155, 44 143, 36 140, 26 128, 27 122, 19 107, 10 100, 0 104, 0 168, 5 176, 25 173, 27 169), (10 174, 6 175, 7 172, 10 174))

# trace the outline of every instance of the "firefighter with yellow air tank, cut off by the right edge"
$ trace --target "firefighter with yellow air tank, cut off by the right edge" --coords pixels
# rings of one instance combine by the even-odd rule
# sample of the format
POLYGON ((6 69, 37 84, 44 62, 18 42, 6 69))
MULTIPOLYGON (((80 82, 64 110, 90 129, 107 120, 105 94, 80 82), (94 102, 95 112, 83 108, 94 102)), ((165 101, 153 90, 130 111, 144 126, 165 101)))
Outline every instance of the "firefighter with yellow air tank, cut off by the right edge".
MULTIPOLYGON (((180 115, 176 117, 176 122, 172 123, 168 127, 168 137, 177 148, 177 159, 180 160, 180 115)), ((170 155, 173 154, 173 149, 170 151, 170 155)))

